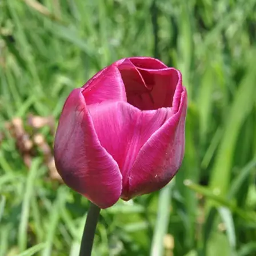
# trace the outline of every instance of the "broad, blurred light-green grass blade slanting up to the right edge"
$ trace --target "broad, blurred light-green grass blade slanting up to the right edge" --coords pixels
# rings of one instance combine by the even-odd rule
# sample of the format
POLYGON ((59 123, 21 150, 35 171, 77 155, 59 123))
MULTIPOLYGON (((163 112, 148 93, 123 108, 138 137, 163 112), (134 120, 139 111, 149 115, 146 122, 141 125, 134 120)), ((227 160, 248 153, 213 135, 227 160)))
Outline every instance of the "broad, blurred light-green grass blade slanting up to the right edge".
MULTIPOLYGON (((255 51, 252 51, 251 56, 254 56, 254 54, 255 51)), ((221 145, 218 149, 217 159, 211 171, 211 190, 218 191, 221 195, 226 195, 229 189, 231 166, 239 129, 243 125, 243 122, 245 122, 245 118, 253 109, 256 86, 252 81, 255 80, 256 69, 253 58, 251 57, 249 59, 247 74, 242 79, 238 90, 235 92, 234 101, 225 124, 221 145)))

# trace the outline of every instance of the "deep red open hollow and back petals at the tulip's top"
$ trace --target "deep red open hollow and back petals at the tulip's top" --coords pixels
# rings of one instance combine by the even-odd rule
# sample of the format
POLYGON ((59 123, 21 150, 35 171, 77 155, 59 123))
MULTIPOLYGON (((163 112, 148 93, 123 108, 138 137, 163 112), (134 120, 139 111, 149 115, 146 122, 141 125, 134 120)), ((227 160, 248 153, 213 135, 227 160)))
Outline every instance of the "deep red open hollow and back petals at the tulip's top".
POLYGON ((141 110, 171 107, 181 73, 152 58, 129 58, 118 69, 125 85, 127 102, 141 110))

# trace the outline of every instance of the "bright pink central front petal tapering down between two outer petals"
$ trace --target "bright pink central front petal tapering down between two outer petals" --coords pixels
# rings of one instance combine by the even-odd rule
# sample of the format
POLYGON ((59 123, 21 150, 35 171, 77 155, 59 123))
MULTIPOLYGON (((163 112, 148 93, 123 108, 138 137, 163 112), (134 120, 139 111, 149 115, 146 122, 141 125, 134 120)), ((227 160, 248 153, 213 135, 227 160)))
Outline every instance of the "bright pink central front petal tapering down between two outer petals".
POLYGON ((88 108, 101 145, 118 163, 123 193, 127 193, 129 173, 139 150, 165 123, 171 109, 141 111, 124 102, 95 104, 88 108))

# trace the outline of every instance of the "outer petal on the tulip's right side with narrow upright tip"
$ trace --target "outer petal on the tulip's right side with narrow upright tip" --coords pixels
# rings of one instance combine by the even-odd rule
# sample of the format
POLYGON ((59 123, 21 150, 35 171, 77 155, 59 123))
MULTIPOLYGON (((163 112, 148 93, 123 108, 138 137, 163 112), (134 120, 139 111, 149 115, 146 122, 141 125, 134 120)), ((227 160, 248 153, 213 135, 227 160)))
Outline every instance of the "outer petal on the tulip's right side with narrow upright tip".
POLYGON ((173 115, 145 143, 129 173, 128 200, 165 186, 177 173, 184 155, 187 93, 180 84, 174 95, 173 115))

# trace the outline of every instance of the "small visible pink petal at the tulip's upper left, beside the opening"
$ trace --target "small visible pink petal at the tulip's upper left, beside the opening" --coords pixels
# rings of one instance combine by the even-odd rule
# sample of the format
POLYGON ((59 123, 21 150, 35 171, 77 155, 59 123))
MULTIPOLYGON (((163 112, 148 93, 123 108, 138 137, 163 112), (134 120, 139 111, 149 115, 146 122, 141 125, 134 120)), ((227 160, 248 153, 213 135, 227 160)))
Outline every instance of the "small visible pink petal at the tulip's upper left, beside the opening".
POLYGON ((83 86, 86 105, 102 101, 127 101, 125 86, 116 66, 118 63, 99 71, 83 86))

